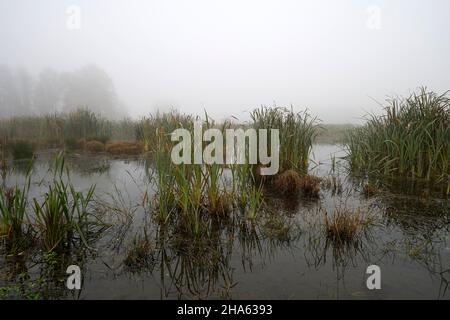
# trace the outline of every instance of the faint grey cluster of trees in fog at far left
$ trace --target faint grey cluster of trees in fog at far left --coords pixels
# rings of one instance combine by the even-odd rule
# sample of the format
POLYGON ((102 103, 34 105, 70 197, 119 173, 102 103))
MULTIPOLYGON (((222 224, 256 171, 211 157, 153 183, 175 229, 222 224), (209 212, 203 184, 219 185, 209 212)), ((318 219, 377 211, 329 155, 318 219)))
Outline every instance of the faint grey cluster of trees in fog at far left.
POLYGON ((25 69, 0 66, 0 117, 88 108, 110 118, 126 115, 108 74, 87 65, 74 72, 43 70, 34 80, 25 69))

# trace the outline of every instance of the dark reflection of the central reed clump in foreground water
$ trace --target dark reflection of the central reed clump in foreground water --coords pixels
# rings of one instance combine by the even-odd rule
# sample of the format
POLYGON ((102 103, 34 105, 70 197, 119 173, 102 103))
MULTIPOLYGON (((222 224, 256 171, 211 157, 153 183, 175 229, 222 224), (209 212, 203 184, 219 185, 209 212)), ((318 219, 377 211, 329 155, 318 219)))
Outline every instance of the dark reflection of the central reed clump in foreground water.
POLYGON ((161 272, 162 298, 176 289, 178 298, 230 298, 233 268, 230 266, 232 239, 223 241, 221 230, 210 229, 202 238, 159 234, 155 257, 161 272), (166 283, 165 278, 170 281, 166 283))

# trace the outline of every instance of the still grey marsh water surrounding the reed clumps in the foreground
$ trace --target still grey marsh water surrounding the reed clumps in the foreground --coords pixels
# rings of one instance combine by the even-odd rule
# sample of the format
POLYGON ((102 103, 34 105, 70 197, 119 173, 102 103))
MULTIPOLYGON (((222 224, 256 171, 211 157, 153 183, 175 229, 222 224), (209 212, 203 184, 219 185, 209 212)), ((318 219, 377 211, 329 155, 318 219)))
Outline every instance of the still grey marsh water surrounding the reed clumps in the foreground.
MULTIPOLYGON (((282 234, 266 223, 253 227, 230 218, 212 227, 203 245, 169 241, 151 219, 154 188, 145 159, 113 159, 73 154, 67 158, 71 181, 80 190, 96 185, 96 202, 107 228, 88 253, 75 253, 52 273, 48 298, 63 299, 449 299, 450 210, 436 184, 377 181, 379 192, 362 194, 360 179, 347 174, 342 147, 315 145, 311 173, 323 183, 320 199, 268 201, 271 214, 285 225, 282 234), (425 191, 424 191, 425 190, 425 191), (151 204, 150 204, 151 205, 151 204), (324 232, 324 210, 345 206, 372 217, 351 245, 336 245, 324 232), (145 266, 124 260, 139 235, 152 246, 145 266), (80 291, 64 287, 65 264, 82 269, 80 291), (381 289, 368 290, 366 268, 381 268, 381 289)), ((52 155, 34 163, 30 197, 42 196, 52 155)), ((7 185, 23 184, 25 168, 16 165, 7 185)), ((46 272, 39 252, 12 259, 0 256, 0 287, 26 274, 46 272)))

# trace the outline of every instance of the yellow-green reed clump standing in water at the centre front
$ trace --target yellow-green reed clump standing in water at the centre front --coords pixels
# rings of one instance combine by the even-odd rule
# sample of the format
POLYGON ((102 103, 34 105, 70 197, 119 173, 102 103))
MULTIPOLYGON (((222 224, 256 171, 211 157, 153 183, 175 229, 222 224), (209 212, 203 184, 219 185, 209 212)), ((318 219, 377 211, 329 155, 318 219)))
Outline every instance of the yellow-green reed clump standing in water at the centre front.
MULTIPOLYGON (((204 129, 217 127, 206 113, 205 119, 204 129)), ((170 139, 171 132, 184 128, 193 135, 194 120, 192 116, 171 112, 148 118, 141 127, 144 144, 154 160, 157 220, 162 224, 176 221, 183 232, 201 236, 207 223, 205 215, 228 213, 232 196, 225 188, 223 165, 172 163, 171 150, 175 142, 170 139)), ((223 125, 221 130, 225 127, 223 125)), ((204 147, 202 145, 202 150, 204 147)), ((192 144, 192 153, 194 149, 192 144)))

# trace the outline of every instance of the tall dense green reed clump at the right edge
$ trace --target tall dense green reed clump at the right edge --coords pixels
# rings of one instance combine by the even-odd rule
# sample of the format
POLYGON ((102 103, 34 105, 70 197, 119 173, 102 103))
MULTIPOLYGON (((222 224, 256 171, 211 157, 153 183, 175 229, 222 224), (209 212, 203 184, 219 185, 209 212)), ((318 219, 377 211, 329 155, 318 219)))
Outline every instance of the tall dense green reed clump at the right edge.
POLYGON ((353 171, 445 181, 450 173, 450 99, 420 88, 406 99, 388 100, 385 114, 347 138, 353 171))

